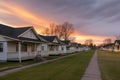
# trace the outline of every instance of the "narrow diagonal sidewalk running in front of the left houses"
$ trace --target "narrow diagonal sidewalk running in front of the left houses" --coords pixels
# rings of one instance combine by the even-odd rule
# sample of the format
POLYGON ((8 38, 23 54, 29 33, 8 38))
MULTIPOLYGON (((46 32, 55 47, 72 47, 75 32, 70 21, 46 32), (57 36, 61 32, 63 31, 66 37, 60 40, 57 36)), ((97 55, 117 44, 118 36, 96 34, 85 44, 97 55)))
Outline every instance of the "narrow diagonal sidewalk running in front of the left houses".
POLYGON ((59 59, 63 59, 63 58, 66 58, 66 57, 69 57, 69 56, 73 56, 73 55, 75 55, 75 54, 71 54, 71 55, 67 55, 67 56, 62 56, 62 57, 59 57, 59 58, 56 58, 56 59, 46 60, 46 61, 43 61, 43 62, 39 62, 39 63, 35 63, 35 64, 31 64, 31 65, 26 65, 26 66, 15 68, 15 69, 10 69, 10 70, 6 70, 6 71, 2 71, 2 72, 0 72, 0 77, 1 76, 5 76, 5 75, 10 74, 10 73, 13 73, 13 72, 17 72, 17 71, 26 69, 26 68, 34 67, 34 66, 37 66, 37 65, 40 65, 40 64, 45 64, 45 63, 48 63, 48 62, 53 62, 53 61, 56 61, 56 60, 59 60, 59 59))

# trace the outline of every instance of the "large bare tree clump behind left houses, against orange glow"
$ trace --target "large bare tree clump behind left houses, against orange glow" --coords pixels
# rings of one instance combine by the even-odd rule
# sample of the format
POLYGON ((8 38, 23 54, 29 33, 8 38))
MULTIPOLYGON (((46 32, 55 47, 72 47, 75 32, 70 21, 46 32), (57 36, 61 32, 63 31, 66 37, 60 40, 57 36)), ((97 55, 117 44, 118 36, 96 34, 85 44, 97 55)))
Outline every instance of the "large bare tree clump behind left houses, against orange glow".
POLYGON ((74 27, 68 22, 63 24, 56 25, 54 23, 50 24, 49 28, 46 28, 44 34, 46 35, 55 35, 59 39, 69 40, 71 34, 74 32, 74 27))

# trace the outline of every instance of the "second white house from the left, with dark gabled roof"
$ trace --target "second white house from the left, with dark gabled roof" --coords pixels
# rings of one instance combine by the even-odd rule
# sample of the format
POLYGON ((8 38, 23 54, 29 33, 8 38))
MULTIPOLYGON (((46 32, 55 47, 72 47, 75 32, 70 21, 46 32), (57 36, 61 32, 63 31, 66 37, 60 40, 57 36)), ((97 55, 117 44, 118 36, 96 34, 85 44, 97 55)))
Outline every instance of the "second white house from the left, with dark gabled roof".
POLYGON ((61 40, 59 40, 57 36, 39 36, 45 39, 47 42, 49 42, 47 44, 48 47, 46 47, 46 50, 48 50, 49 55, 58 55, 66 53, 66 45, 61 40))

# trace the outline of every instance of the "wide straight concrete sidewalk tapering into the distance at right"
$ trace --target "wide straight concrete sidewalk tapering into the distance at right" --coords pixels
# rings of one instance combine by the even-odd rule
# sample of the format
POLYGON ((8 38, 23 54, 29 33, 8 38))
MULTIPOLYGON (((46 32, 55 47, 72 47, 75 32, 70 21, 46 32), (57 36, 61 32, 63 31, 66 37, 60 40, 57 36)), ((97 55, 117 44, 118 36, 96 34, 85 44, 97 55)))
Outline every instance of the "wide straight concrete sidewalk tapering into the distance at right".
POLYGON ((97 51, 95 51, 81 80, 102 80, 97 61, 97 51))

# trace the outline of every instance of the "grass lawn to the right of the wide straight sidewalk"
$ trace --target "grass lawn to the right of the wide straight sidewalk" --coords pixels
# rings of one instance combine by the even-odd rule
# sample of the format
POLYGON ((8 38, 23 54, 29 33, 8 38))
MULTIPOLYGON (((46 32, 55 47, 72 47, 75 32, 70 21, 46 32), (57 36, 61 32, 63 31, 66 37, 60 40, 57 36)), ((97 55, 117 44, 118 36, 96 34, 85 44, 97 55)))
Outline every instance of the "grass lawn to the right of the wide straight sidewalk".
POLYGON ((120 53, 99 51, 98 61, 103 80, 120 80, 120 53))

